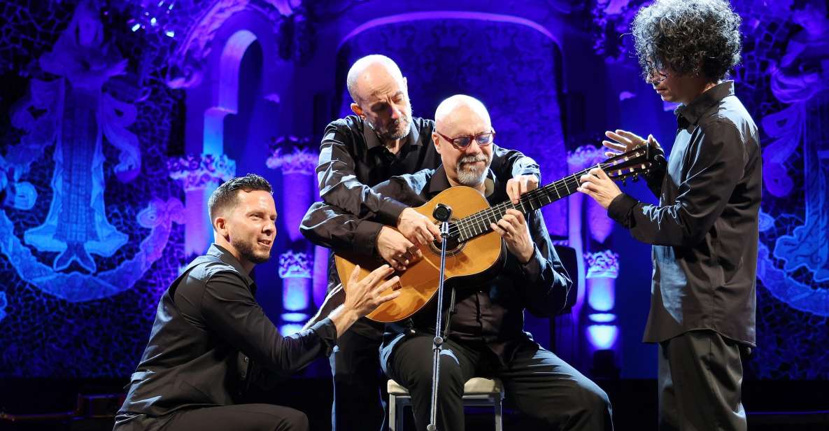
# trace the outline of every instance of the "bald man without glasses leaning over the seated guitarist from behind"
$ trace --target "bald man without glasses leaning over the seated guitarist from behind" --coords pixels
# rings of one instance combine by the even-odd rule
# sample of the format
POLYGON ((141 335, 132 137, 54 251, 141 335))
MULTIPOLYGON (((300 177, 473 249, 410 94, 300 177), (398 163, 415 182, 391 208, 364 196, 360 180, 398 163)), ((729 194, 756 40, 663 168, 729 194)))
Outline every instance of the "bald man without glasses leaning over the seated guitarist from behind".
MULTIPOLYGON (((376 254, 404 270, 411 259, 419 259, 417 247, 439 238, 439 231, 409 205, 371 186, 439 166, 434 121, 412 117, 407 80, 386 56, 356 61, 347 87, 354 115, 329 123, 323 133, 317 167, 323 202, 308 210, 300 230, 314 244, 335 252, 376 254)), ((517 151, 493 146, 492 169, 509 178, 507 192, 515 201, 538 186, 538 165, 517 151)), ((329 291, 339 283, 331 265, 329 291)), ((352 329, 337 340, 330 359, 332 426, 334 431, 381 429, 385 378, 377 351, 383 327, 363 318, 352 329)))

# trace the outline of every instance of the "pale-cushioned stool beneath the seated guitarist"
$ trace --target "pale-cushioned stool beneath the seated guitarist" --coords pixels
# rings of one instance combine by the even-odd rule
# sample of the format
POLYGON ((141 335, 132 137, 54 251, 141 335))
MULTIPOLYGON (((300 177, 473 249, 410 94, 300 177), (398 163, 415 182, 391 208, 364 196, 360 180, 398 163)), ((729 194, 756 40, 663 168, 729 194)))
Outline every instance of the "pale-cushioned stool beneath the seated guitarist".
MULTIPOLYGON (((412 397, 409 395, 409 390, 395 380, 389 380, 388 389, 389 430, 402 431, 403 415, 397 414, 397 409, 402 412, 407 404, 411 404, 412 397)), ((492 405, 495 408, 495 431, 502 431, 501 401, 503 399, 504 388, 501 380, 473 377, 463 385, 463 405, 492 405)))

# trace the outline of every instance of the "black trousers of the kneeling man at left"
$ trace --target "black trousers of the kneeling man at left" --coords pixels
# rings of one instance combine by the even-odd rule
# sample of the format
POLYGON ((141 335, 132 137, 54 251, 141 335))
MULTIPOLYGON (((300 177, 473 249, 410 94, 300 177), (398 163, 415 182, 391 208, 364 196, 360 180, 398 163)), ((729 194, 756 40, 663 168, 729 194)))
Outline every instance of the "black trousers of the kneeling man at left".
POLYGON ((308 431, 299 410, 273 404, 235 404, 177 410, 158 418, 119 414, 113 431, 308 431))

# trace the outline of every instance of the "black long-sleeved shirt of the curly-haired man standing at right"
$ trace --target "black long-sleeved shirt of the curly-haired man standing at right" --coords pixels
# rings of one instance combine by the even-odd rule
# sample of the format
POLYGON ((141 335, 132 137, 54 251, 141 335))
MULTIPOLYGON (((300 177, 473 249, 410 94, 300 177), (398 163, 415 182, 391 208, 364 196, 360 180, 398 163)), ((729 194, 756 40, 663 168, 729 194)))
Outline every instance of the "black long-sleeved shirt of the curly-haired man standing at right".
POLYGON ((647 184, 659 206, 617 196, 608 215, 653 245, 644 341, 711 329, 754 345, 762 172, 757 126, 723 82, 676 109, 670 160, 647 184))

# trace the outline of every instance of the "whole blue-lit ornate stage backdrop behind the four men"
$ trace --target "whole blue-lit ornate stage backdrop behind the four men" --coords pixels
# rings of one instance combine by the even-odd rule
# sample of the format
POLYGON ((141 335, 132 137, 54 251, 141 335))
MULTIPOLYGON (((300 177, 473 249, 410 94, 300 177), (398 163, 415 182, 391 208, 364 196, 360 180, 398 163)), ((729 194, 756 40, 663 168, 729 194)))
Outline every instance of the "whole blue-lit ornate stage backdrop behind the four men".
MULTIPOLYGON (((673 107, 643 82, 625 35, 645 3, 0 3, 0 412, 119 392, 158 298, 212 240, 206 196, 234 175, 274 185, 278 242, 255 278, 269 317, 295 331, 324 294, 327 260, 298 223, 318 199, 320 135, 349 114, 345 75, 360 56, 397 61, 414 115, 432 117, 451 94, 482 99, 497 143, 540 162, 542 182, 598 162, 608 128, 653 133, 669 150, 673 107)), ((736 92, 764 148, 746 407, 829 409, 827 2, 733 4, 744 22, 736 92)), ((638 183, 625 191, 655 201, 638 183)), ((649 247, 581 196, 545 219, 576 251, 579 289, 555 332, 530 316, 528 329, 599 379, 621 429, 637 409, 650 426, 649 247)), ((322 428, 314 394, 330 400, 328 372, 326 361, 309 367, 286 383, 308 401, 284 400, 322 412, 322 428)))

